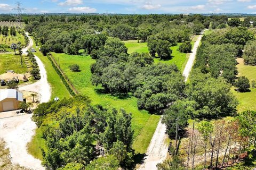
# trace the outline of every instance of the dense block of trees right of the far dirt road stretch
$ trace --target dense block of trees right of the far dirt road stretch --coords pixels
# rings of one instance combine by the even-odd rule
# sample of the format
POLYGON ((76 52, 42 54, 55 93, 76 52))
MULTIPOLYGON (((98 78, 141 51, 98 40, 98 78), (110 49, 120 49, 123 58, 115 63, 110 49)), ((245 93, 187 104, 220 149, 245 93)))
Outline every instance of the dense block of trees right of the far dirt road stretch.
POLYGON ((195 68, 203 73, 211 73, 212 77, 223 77, 234 83, 237 75, 236 57, 242 55, 247 41, 253 40, 254 34, 246 28, 233 28, 215 31, 204 36, 198 48, 195 68))

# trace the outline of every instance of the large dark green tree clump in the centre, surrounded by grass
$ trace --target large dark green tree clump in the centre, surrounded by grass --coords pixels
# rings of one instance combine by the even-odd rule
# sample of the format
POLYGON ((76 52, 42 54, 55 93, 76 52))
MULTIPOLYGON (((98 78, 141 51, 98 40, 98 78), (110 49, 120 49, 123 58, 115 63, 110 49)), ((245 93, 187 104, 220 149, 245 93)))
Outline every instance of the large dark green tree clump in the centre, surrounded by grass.
POLYGON ((176 65, 153 64, 148 53, 128 55, 117 38, 108 38, 97 54, 91 66, 92 83, 111 94, 133 92, 140 109, 159 111, 182 95, 184 78, 176 65))

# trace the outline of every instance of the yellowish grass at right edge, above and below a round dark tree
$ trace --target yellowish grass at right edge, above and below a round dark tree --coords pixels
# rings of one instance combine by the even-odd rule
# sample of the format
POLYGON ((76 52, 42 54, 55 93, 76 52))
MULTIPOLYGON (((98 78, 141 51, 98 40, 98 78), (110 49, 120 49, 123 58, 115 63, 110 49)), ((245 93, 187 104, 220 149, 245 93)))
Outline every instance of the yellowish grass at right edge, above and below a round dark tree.
MULTIPOLYGON (((238 77, 245 76, 250 80, 256 81, 256 66, 244 65, 243 58, 237 58, 237 70, 238 77)), ((237 92, 235 91, 235 87, 231 88, 231 91, 235 94, 239 101, 239 105, 237 107, 238 112, 243 112, 247 110, 256 111, 256 88, 251 88, 250 92, 237 92)))

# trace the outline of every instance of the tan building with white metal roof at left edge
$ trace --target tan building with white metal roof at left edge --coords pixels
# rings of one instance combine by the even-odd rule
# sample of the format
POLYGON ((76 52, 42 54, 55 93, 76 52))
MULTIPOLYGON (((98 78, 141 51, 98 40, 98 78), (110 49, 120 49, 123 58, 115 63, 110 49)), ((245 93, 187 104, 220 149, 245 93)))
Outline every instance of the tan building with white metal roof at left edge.
POLYGON ((22 92, 13 89, 0 91, 0 112, 17 110, 22 102, 22 92))

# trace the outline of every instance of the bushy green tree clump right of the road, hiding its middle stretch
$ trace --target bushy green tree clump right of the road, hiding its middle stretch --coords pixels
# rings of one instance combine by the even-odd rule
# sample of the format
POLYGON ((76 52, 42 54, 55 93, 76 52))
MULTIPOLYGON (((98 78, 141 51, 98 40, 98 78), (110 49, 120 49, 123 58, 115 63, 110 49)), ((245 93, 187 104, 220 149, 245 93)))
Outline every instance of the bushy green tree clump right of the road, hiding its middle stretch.
POLYGON ((194 117, 216 117, 236 112, 238 101, 230 92, 230 84, 223 78, 214 79, 195 70, 190 81, 186 94, 189 100, 195 101, 194 117))

